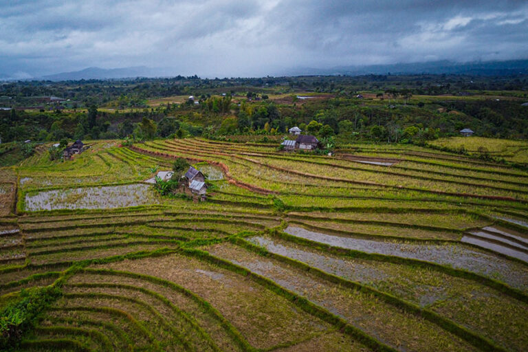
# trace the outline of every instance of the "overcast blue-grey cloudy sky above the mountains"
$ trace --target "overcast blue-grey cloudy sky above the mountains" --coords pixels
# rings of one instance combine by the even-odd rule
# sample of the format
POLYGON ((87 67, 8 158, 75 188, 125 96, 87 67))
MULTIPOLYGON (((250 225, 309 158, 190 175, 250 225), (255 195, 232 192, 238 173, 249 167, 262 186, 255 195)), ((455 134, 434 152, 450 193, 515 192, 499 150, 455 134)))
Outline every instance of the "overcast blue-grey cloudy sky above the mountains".
POLYGON ((528 58, 528 1, 0 0, 0 74, 168 74, 528 58))

